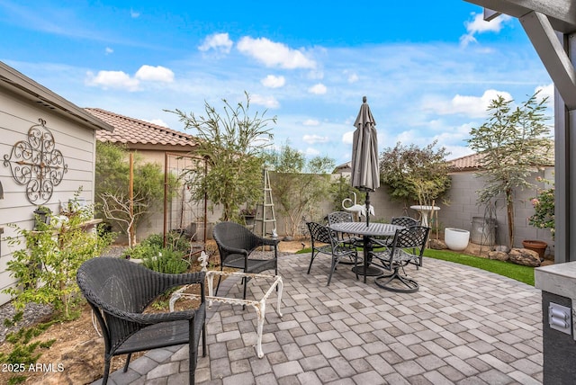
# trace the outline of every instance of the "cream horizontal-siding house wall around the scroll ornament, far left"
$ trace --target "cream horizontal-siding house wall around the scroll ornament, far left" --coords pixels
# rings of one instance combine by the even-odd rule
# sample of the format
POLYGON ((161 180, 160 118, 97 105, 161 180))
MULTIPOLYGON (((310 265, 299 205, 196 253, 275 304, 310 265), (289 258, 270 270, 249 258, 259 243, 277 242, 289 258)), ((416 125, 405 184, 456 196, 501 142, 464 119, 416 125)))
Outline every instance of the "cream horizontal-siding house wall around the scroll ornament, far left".
MULTIPOLYGON (((0 88, 0 156, 10 157, 14 144, 27 139, 31 126, 46 121, 46 128, 54 137, 67 165, 60 184, 54 187, 51 198, 44 206, 52 212, 59 212, 59 202, 67 202, 74 197, 79 187, 83 188, 81 197, 87 202, 94 201, 94 159, 95 131, 80 127, 75 121, 67 120, 65 115, 54 112, 40 103, 31 103, 9 91, 0 88)), ((0 291, 14 284, 14 279, 6 271, 16 246, 8 246, 5 237, 15 236, 14 224, 21 228, 33 228, 33 213, 36 205, 26 198, 25 186, 16 184, 10 167, 0 166, 0 181, 4 187, 4 200, 0 200, 0 227, 4 228, 0 246, 0 291)), ((0 304, 9 297, 0 292, 0 304)))

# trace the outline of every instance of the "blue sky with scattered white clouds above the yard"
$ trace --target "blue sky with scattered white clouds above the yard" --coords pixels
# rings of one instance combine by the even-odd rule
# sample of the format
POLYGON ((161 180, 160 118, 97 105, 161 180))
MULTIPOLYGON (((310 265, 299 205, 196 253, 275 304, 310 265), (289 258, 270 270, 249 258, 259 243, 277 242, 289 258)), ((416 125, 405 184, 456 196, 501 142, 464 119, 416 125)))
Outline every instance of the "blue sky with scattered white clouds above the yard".
POLYGON ((164 110, 201 114, 246 91, 277 116, 275 146, 337 165, 364 95, 380 151, 437 139, 455 158, 497 94, 553 94, 518 20, 483 22, 460 0, 180 3, 0 0, 0 60, 81 107, 175 130, 164 110))

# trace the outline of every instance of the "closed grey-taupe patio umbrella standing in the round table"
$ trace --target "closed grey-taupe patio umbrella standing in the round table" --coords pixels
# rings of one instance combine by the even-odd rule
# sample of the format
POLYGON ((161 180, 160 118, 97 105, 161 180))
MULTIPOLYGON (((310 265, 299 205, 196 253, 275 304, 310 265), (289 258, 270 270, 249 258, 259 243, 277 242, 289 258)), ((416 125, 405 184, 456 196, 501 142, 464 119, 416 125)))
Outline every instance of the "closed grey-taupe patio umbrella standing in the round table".
POLYGON ((366 226, 370 224, 370 192, 380 187, 380 172, 378 167, 378 138, 376 134, 376 121, 362 98, 360 112, 356 117, 354 126, 354 140, 352 142, 352 187, 366 193, 366 226))

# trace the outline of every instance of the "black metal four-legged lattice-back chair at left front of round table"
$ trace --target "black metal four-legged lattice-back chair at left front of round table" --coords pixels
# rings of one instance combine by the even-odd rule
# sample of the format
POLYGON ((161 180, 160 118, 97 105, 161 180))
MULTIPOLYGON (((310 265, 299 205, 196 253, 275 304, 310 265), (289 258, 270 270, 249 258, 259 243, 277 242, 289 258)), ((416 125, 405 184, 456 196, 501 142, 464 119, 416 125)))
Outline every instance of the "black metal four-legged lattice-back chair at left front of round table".
POLYGON ((356 267, 358 265, 358 253, 356 252, 356 247, 351 247, 344 244, 344 242, 338 240, 338 238, 334 236, 333 231, 330 230, 330 228, 320 223, 308 222, 306 225, 310 231, 312 246, 312 255, 310 258, 310 265, 308 266, 308 273, 310 274, 314 258, 322 253, 332 256, 332 265, 330 266, 327 286, 329 286, 330 281, 332 280, 332 273, 334 273, 338 262, 340 262, 340 259, 342 258, 354 259, 354 271, 356 272, 357 280, 358 269, 356 267))

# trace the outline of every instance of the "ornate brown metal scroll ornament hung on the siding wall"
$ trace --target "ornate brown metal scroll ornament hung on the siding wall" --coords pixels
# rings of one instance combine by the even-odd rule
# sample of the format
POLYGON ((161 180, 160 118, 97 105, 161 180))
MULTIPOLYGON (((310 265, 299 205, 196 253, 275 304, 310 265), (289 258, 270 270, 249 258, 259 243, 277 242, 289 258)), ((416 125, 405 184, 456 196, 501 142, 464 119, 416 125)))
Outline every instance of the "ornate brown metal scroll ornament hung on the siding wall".
POLYGON ((46 121, 31 126, 26 140, 14 144, 10 156, 4 155, 4 166, 9 166, 17 184, 26 186, 26 198, 32 204, 49 201, 54 186, 62 182, 67 165, 46 121))

